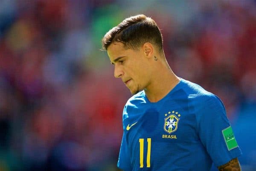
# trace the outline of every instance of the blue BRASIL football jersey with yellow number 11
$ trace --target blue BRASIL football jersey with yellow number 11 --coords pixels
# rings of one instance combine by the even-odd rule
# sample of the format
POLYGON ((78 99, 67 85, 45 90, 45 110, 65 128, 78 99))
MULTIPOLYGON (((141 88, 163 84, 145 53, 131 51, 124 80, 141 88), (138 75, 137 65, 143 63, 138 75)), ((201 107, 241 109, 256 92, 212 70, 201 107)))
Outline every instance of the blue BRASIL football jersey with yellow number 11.
POLYGON ((212 162, 217 167, 241 155, 234 136, 231 149, 225 141, 230 122, 221 100, 182 78, 158 102, 144 91, 132 96, 122 121, 123 171, 209 171, 212 162))

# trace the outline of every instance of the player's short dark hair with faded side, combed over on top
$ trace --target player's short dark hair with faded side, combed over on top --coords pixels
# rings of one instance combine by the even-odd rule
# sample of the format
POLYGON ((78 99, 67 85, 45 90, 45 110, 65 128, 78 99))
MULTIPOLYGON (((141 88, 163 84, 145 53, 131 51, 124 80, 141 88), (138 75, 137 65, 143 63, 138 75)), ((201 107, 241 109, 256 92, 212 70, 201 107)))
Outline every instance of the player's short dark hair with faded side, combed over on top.
POLYGON ((143 43, 149 42, 163 49, 163 37, 157 23, 143 14, 126 18, 109 30, 102 39, 102 49, 107 50, 114 42, 121 42, 124 47, 138 50, 143 43))

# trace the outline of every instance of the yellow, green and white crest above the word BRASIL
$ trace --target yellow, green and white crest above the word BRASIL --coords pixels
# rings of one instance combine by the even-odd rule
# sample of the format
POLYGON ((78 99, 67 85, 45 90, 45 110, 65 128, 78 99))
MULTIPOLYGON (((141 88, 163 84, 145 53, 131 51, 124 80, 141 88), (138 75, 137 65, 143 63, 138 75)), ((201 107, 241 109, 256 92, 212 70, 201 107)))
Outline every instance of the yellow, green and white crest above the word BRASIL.
POLYGON ((179 122, 179 118, 177 118, 177 116, 175 116, 174 114, 169 115, 167 118, 164 119, 164 126, 163 129, 168 132, 168 133, 172 133, 175 132, 178 128, 178 122, 179 122))

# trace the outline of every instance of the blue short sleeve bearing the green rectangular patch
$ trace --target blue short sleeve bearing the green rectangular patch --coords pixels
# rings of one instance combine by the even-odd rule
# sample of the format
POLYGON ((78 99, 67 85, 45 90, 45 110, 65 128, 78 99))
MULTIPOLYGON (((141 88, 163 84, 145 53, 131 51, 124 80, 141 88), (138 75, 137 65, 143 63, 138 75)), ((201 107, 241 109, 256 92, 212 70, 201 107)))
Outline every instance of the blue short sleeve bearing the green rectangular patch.
POLYGON ((222 101, 215 95, 201 99, 198 111, 198 134, 216 167, 239 157, 236 142, 222 101), (228 131, 227 131, 228 130, 228 131))

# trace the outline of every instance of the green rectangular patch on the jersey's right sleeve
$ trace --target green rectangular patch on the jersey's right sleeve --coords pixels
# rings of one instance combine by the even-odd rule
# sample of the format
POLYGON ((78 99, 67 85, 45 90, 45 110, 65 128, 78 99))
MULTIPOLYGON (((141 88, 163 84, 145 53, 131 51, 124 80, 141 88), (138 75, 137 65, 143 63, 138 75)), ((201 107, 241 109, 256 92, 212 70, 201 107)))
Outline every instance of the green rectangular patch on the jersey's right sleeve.
POLYGON ((224 140, 226 142, 227 149, 229 151, 238 147, 238 144, 236 142, 236 139, 235 139, 235 136, 234 136, 234 133, 233 133, 233 130, 232 130, 231 126, 222 130, 222 134, 223 134, 224 140))

